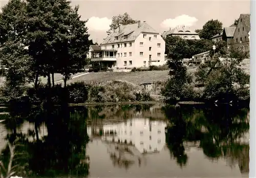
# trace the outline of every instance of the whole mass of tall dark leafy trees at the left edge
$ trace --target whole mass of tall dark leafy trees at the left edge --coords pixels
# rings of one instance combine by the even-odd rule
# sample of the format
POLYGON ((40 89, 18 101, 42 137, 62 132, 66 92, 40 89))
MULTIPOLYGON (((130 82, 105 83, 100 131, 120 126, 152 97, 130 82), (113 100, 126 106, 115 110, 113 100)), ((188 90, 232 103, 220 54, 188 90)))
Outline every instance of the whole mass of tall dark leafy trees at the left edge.
MULTIPOLYGON (((80 20, 78 7, 66 0, 10 0, 0 14, 2 64, 8 68, 7 85, 29 82, 38 86, 38 77, 60 73, 66 81, 86 65, 90 43, 80 20)), ((54 78, 52 78, 54 86, 54 78)))

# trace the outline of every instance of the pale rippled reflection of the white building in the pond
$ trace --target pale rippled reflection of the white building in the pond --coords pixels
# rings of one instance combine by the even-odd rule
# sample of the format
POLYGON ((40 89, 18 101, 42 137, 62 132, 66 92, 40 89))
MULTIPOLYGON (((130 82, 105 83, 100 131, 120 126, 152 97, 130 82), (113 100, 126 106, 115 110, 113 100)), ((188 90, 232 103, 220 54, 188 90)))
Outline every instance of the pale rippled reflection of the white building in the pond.
MULTIPOLYGON (((165 144, 165 126, 163 121, 130 119, 118 124, 103 125, 102 138, 133 144, 141 153, 158 152, 165 144)), ((92 128, 88 128, 89 137, 92 136, 91 130, 92 128)), ((100 132, 99 128, 97 132, 100 132)))

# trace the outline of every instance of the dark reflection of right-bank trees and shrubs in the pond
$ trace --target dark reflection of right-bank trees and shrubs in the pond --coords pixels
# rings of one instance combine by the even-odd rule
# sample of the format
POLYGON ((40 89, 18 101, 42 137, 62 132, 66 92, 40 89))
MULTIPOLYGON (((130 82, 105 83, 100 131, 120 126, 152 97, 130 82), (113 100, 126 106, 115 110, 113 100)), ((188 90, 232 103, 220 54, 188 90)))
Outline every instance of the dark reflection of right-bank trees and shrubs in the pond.
POLYGON ((163 110, 169 119, 166 144, 180 166, 187 161, 184 141, 200 141, 204 154, 211 159, 239 159, 246 147, 237 143, 237 139, 249 130, 246 108, 228 105, 210 108, 166 106, 163 110))

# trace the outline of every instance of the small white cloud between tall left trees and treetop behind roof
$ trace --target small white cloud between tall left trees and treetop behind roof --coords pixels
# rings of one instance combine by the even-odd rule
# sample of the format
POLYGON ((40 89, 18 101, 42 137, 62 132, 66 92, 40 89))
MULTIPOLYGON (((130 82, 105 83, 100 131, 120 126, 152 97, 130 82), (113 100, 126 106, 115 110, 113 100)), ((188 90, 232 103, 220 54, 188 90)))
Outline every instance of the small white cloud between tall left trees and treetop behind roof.
POLYGON ((107 17, 99 18, 93 16, 88 19, 86 26, 91 31, 106 31, 110 29, 111 22, 112 20, 107 17))

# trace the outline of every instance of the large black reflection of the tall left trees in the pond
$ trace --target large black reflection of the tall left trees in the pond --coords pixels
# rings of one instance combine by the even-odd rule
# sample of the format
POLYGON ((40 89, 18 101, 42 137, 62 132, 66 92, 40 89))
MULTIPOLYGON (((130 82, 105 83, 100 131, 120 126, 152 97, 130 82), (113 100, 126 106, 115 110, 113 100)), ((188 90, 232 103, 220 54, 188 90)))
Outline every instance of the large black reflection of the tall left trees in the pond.
MULTIPOLYGON (((29 136, 19 139, 19 143, 27 145, 24 151, 30 155, 26 172, 30 176, 88 175, 87 109, 77 113, 68 107, 48 108, 47 112, 41 110, 36 117, 46 123, 48 135, 33 142, 28 141, 29 136)), ((8 139, 12 137, 13 134, 8 139)))

